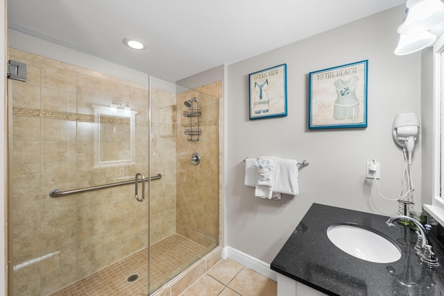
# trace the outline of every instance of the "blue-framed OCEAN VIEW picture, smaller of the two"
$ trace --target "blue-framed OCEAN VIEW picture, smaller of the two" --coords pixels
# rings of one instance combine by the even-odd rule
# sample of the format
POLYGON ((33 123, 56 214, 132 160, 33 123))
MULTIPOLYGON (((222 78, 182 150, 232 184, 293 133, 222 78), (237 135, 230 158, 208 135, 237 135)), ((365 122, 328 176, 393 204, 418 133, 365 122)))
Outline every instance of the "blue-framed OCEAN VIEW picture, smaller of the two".
POLYGON ((287 64, 248 75, 250 120, 287 116, 287 64))

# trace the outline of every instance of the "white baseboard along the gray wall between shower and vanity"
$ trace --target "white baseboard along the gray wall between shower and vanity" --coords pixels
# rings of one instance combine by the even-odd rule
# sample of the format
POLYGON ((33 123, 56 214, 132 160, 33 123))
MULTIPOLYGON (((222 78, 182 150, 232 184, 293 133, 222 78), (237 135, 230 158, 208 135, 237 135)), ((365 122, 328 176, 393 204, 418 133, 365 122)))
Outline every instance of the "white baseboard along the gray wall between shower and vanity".
POLYGON ((271 270, 270 264, 260 261, 259 259, 245 254, 237 249, 233 249, 229 246, 223 247, 222 258, 230 258, 238 263, 241 263, 247 268, 250 268, 250 270, 254 270, 257 273, 262 274, 264 277, 268 277, 268 279, 278 281, 278 274, 274 270, 271 270))

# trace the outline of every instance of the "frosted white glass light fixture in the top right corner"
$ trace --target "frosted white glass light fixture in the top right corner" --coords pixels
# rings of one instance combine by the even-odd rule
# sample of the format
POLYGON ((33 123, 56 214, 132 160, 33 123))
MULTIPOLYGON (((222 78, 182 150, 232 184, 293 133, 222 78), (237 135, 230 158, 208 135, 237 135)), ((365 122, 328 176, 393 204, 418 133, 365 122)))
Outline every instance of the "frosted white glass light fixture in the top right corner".
POLYGON ((400 41, 395 54, 402 56, 432 46, 444 31, 441 0, 407 0, 404 20, 398 27, 400 41))

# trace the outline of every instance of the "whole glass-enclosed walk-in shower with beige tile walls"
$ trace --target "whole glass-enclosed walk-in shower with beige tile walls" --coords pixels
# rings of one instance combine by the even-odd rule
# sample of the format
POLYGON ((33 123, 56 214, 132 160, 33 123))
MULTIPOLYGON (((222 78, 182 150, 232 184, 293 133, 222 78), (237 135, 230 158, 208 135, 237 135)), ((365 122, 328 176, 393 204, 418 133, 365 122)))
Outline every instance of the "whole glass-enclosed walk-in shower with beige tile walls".
POLYGON ((8 81, 10 295, 148 295, 219 244, 221 83, 9 58, 28 67, 8 81))

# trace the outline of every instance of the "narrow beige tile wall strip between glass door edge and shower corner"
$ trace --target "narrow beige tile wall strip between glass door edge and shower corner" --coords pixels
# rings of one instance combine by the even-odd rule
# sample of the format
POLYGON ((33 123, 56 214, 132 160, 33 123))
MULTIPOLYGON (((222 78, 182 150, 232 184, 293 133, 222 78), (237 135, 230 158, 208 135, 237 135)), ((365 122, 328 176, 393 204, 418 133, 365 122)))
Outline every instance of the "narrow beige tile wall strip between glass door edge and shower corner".
POLYGON ((151 88, 150 243, 176 233, 176 94, 151 88))

